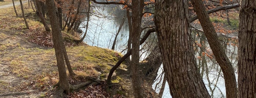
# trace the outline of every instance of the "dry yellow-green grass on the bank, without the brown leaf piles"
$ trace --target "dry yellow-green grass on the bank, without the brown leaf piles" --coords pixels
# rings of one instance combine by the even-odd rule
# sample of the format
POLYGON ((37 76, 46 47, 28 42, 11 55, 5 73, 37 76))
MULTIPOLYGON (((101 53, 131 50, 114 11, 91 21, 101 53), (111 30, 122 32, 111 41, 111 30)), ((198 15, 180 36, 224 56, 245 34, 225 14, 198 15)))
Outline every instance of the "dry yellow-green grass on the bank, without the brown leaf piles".
MULTIPOLYGON (((45 30, 32 8, 27 3, 23 6, 30 30, 26 29, 19 6, 16 7, 19 17, 16 17, 12 7, 0 10, 0 94, 35 90, 37 97, 38 94, 44 96, 44 92, 51 90, 59 80, 55 52, 52 48, 28 41, 25 34, 44 33, 45 30)), ((63 35, 75 39, 68 33, 63 35)), ((71 46, 67 52, 77 74, 70 79, 73 84, 85 82, 86 76, 108 74, 111 68, 108 64, 115 64, 120 57, 112 50, 94 46, 71 46)))

